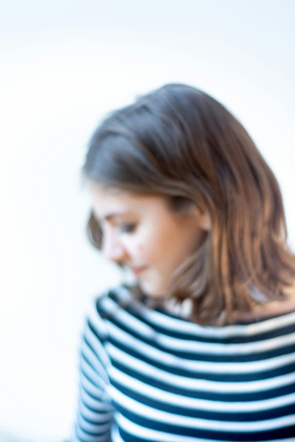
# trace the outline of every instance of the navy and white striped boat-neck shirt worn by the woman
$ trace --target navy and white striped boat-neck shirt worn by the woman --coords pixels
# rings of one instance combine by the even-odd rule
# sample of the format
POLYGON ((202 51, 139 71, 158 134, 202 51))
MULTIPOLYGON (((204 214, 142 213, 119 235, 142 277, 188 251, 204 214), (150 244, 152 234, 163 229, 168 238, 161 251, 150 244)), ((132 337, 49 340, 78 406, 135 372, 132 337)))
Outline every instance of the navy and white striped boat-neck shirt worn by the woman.
POLYGON ((87 320, 72 442, 295 441, 295 312, 203 327, 128 299, 87 320))

